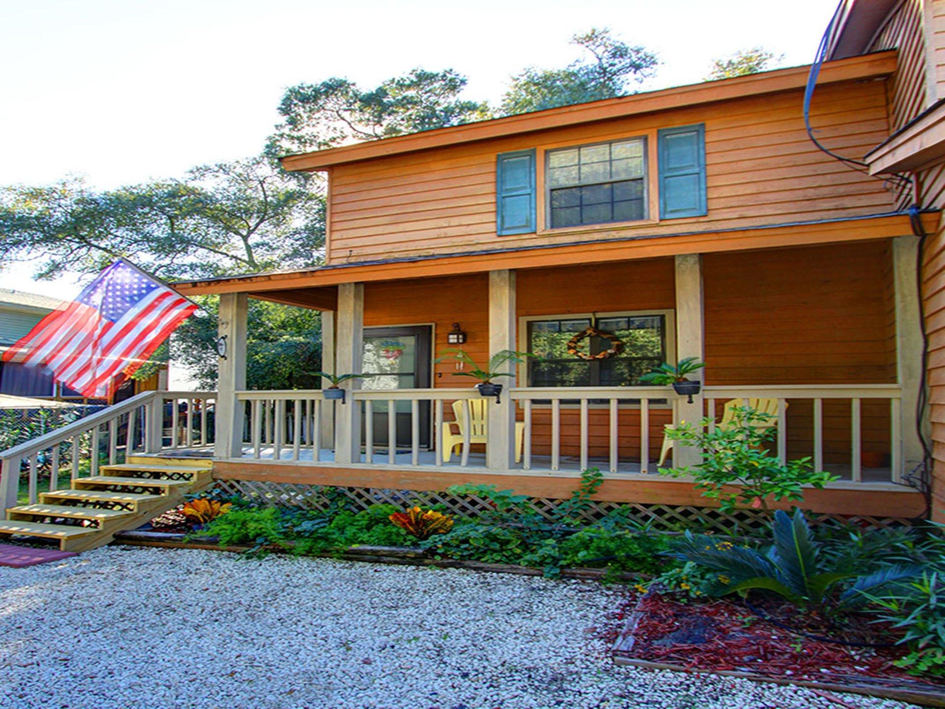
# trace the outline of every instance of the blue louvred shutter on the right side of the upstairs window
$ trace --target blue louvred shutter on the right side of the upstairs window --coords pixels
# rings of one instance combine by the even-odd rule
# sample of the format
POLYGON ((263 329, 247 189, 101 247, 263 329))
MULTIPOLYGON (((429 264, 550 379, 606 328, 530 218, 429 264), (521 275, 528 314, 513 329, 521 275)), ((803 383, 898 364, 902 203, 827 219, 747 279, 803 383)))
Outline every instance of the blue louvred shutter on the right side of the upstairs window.
POLYGON ((660 130, 660 218, 705 216, 705 126, 681 126, 660 130))

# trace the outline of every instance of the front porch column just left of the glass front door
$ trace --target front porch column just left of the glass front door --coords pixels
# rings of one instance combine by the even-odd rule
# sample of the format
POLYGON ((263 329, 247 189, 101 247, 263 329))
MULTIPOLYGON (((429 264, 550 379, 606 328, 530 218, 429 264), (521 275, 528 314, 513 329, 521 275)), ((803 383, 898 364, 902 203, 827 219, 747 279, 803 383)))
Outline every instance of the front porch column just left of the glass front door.
MULTIPOLYGON (((364 284, 338 285, 338 321, 335 333, 335 374, 360 374, 364 347, 364 284)), ((352 400, 360 389, 357 379, 341 385, 346 401, 335 402, 335 462, 361 461, 361 407, 352 400)))

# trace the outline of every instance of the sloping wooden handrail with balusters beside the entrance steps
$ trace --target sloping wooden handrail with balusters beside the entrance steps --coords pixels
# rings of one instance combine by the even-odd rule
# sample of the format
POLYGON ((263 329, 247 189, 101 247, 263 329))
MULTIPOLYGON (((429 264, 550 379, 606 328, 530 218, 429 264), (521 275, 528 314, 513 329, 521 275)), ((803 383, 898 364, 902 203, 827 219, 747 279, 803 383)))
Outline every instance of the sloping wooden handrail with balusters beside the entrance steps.
MULTIPOLYGON (((37 502, 41 477, 47 490, 60 476, 96 476, 101 465, 136 453, 208 446, 214 440, 216 394, 207 391, 145 391, 49 433, 0 451, 0 501, 15 507, 26 473, 26 497, 37 502), (170 406, 168 406, 170 404, 170 406)), ((0 515, 3 516, 3 515, 0 515)))

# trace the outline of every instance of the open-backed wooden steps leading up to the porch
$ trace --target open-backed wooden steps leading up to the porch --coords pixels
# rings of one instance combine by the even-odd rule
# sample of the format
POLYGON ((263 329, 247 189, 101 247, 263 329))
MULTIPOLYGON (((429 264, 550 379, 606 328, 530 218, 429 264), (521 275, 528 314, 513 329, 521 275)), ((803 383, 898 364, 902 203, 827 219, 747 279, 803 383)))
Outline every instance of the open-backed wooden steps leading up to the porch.
POLYGON ((103 465, 97 476, 73 479, 71 490, 40 493, 38 503, 9 508, 0 535, 55 540, 62 551, 94 549, 208 487, 212 466, 211 460, 146 457, 103 465))

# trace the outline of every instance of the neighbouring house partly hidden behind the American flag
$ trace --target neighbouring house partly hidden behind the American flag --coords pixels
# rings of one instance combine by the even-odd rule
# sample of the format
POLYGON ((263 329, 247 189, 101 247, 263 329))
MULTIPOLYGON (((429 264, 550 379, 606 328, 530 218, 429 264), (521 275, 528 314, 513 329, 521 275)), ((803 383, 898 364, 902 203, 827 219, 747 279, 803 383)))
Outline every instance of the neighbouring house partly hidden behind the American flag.
MULTIPOLYGON (((0 288, 0 355, 45 316, 62 304, 55 298, 0 288)), ((137 391, 167 389, 167 368, 144 381, 129 381, 115 394, 120 401, 137 391)), ((52 372, 40 367, 26 367, 16 362, 0 361, 0 394, 15 396, 82 399, 82 395, 53 381, 52 372)))

